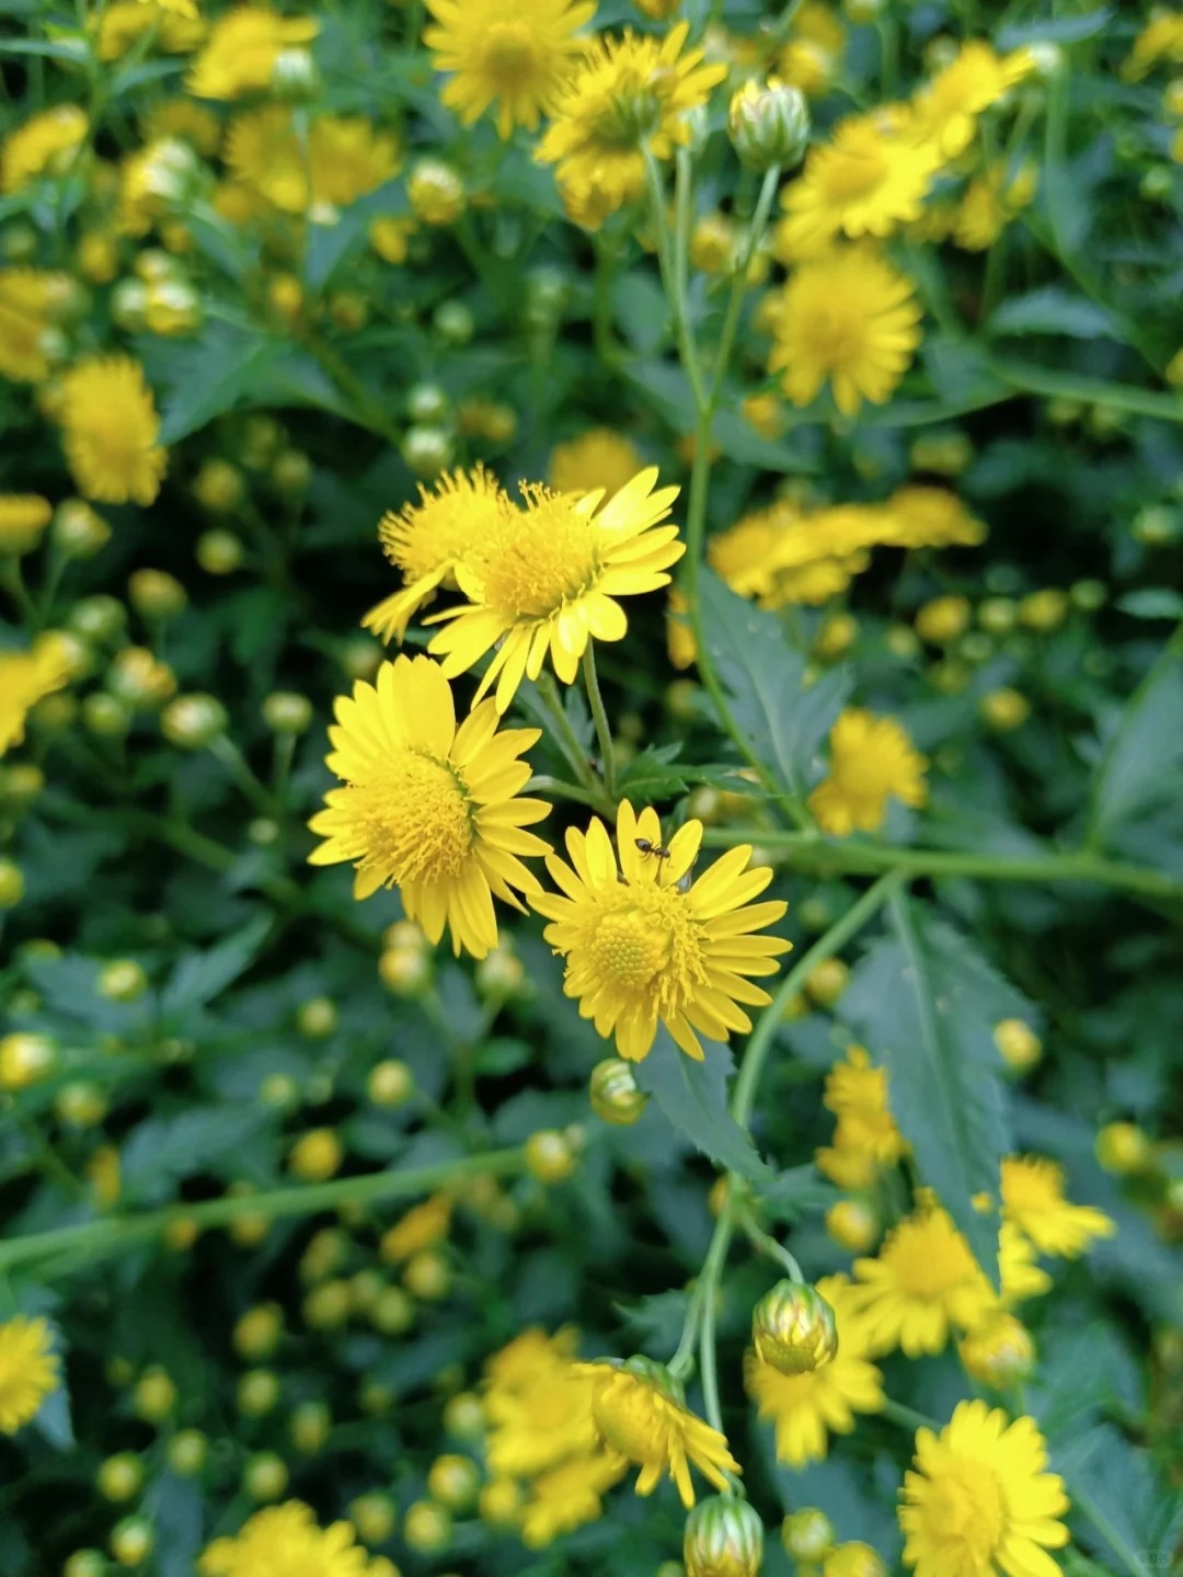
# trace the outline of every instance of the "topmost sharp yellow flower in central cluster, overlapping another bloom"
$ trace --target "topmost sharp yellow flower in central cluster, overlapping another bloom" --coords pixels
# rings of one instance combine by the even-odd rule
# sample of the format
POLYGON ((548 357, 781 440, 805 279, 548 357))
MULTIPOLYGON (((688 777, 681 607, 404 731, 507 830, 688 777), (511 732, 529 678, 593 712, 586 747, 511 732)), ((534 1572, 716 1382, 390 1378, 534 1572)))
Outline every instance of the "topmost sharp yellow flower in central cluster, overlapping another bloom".
POLYGON ((447 623, 428 651, 454 678, 498 645, 477 688, 496 683, 506 711, 523 678, 536 680, 550 658, 564 684, 573 684, 588 642, 621 640, 627 629, 619 596, 669 583, 666 569, 685 547, 676 525, 660 525, 677 487, 660 487, 657 467, 633 476, 602 503, 599 492, 554 494, 523 487, 526 509, 490 517, 473 550, 455 563, 466 607, 435 613, 447 623))

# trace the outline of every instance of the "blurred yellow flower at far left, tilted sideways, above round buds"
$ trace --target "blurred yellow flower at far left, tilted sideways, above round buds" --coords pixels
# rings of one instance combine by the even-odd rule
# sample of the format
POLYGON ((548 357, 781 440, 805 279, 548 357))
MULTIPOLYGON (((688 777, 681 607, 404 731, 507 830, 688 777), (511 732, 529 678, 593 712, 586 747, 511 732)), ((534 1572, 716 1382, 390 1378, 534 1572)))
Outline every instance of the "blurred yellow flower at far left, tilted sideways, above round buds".
POLYGON ((90 356, 61 378, 63 446, 85 498, 151 503, 169 453, 143 367, 131 356, 90 356))

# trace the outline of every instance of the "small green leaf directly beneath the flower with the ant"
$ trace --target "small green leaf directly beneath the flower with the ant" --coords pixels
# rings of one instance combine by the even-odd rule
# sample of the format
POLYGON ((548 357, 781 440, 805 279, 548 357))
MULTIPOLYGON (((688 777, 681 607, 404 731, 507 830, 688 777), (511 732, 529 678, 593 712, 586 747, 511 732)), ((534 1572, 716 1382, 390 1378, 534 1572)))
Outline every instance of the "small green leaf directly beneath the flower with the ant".
POLYGON ((703 1050, 704 1060, 698 1063, 674 1044, 665 1027, 658 1027, 654 1049, 636 1063, 636 1083, 679 1134, 717 1165, 753 1183, 770 1181, 772 1172, 728 1110, 728 1079, 734 1066, 729 1047, 703 1041, 703 1050))

